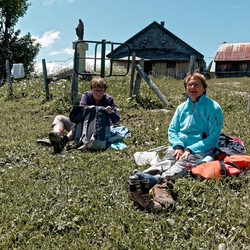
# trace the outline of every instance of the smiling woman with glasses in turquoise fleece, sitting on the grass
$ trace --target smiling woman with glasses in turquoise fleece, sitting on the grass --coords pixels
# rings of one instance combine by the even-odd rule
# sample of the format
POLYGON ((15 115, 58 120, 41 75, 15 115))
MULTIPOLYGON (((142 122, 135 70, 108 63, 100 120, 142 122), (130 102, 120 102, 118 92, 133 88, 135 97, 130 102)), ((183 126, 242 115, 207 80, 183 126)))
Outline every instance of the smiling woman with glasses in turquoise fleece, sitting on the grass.
POLYGON ((150 175, 154 175, 154 180, 157 177, 165 178, 165 182, 152 189, 154 202, 149 204, 153 209, 159 207, 158 203, 173 203, 171 196, 169 198, 164 194, 167 189, 166 180, 186 175, 191 165, 198 164, 204 157, 211 155, 217 146, 223 125, 220 105, 206 96, 205 77, 192 73, 183 83, 188 98, 177 107, 169 125, 168 139, 171 147, 156 165, 146 169, 144 173, 137 172, 143 178, 145 173, 149 174, 149 179, 150 175))

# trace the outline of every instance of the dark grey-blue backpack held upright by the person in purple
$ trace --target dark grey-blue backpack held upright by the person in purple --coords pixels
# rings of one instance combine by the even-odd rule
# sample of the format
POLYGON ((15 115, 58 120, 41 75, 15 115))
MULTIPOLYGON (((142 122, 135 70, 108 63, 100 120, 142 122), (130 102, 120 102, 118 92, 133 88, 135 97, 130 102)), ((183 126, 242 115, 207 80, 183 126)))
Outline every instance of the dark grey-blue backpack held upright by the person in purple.
POLYGON ((101 106, 74 106, 69 118, 76 123, 75 148, 106 149, 106 111, 101 106))

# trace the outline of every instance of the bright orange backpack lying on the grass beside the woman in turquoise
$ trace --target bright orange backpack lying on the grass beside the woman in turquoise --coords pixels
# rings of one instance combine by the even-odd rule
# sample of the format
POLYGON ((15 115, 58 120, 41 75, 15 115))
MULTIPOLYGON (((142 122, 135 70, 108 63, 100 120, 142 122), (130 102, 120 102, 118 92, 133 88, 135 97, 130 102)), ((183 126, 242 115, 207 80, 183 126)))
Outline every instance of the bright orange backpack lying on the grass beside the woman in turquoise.
POLYGON ((239 176, 250 171, 250 156, 231 155, 223 160, 214 160, 199 165, 192 166, 190 173, 192 176, 201 179, 220 180, 227 176, 239 176))

